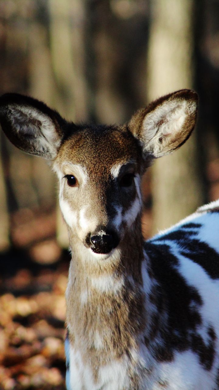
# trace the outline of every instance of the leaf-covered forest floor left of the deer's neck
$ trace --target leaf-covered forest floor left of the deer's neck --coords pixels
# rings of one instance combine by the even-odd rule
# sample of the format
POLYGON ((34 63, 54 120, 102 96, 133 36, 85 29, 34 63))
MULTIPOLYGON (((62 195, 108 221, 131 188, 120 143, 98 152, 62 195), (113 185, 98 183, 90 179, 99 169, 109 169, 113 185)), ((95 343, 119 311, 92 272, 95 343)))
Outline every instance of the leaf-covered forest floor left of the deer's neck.
POLYGON ((69 260, 39 264, 22 250, 0 257, 0 390, 65 389, 69 260))

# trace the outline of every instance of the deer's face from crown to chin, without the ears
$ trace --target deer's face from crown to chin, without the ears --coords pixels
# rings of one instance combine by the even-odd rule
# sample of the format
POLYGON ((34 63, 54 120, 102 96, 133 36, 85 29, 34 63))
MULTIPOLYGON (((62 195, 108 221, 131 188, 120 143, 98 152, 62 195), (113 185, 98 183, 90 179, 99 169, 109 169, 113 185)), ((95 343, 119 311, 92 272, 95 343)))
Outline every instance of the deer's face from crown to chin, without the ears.
POLYGON ((125 127, 78 129, 54 168, 71 234, 95 254, 116 248, 141 210, 141 148, 125 127))

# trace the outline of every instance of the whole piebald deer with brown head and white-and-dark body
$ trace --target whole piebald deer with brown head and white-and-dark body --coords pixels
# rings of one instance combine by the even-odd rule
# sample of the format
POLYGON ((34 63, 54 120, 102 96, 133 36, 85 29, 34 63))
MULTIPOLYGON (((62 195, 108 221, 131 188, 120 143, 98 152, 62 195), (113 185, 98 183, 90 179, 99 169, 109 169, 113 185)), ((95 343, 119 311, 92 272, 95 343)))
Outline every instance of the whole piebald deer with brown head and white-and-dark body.
POLYGON ((32 97, 0 98, 5 135, 60 184, 68 390, 219 389, 219 200, 147 241, 141 231, 141 178, 189 138, 197 105, 184 89, 124 125, 77 125, 32 97))

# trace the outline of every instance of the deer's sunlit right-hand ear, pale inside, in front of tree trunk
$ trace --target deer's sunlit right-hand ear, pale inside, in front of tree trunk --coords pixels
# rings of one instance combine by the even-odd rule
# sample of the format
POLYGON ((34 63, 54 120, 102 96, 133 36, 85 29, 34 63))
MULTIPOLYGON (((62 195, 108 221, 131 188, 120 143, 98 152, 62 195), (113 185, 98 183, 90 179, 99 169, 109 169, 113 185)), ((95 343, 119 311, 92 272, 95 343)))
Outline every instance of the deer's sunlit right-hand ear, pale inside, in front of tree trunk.
POLYGON ((139 110, 129 122, 145 158, 158 158, 178 149, 189 138, 197 116, 198 95, 184 89, 161 97, 139 110))

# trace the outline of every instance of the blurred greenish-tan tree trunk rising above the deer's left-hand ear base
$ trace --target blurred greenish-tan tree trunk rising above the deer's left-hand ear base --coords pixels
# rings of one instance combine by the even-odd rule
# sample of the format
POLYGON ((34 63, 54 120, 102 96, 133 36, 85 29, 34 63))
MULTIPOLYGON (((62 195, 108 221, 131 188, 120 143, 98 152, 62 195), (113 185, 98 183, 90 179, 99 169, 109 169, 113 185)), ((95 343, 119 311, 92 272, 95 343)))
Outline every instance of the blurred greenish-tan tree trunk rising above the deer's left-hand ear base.
MULTIPOLYGON (((49 0, 48 4, 51 60, 56 84, 54 104, 66 119, 86 121, 84 1, 49 0)), ((69 245, 67 229, 58 205, 57 239, 62 247, 69 245)))

